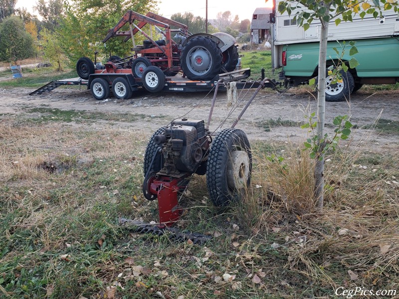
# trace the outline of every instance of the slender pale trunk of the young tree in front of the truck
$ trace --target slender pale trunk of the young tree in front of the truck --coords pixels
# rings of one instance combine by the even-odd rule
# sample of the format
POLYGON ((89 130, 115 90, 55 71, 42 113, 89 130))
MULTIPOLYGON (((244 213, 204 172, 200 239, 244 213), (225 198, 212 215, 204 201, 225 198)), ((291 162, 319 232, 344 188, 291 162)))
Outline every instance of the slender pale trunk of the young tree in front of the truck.
MULTIPOLYGON (((328 7, 329 8, 329 7, 328 7)), ((327 58, 328 22, 322 20, 320 32, 319 76, 317 82, 317 146, 316 164, 314 169, 316 206, 323 208, 324 203, 324 120, 326 107, 326 58, 327 58)))

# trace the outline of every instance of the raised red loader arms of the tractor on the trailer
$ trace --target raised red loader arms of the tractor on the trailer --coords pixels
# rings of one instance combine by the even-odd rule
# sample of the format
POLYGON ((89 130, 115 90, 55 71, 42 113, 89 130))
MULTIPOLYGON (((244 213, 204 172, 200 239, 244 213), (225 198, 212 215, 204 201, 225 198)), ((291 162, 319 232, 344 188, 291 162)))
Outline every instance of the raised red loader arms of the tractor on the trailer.
MULTIPOLYGON (((152 25, 157 25, 159 27, 163 28, 169 28, 170 26, 166 23, 163 23, 161 21, 158 21, 156 19, 153 19, 151 17, 148 17, 146 15, 140 14, 138 12, 135 12, 133 10, 128 10, 122 18, 119 20, 119 22, 115 25, 114 28, 110 29, 107 36, 102 40, 103 43, 105 43, 108 39, 114 36, 126 36, 127 32, 129 31, 119 31, 125 24, 132 24, 134 20, 140 21, 137 27, 140 29, 144 27, 145 24, 152 24, 152 25)), ((134 28, 133 34, 136 34, 139 31, 139 29, 134 28)))

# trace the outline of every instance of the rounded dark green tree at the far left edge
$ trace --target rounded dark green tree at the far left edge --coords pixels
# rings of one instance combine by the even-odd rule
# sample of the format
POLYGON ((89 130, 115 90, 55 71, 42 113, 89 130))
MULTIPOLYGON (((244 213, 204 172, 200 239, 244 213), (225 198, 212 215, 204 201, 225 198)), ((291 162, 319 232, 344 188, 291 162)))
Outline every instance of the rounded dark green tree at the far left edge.
POLYGON ((25 31, 22 20, 15 16, 0 24, 0 61, 14 62, 33 56, 33 38, 25 31))

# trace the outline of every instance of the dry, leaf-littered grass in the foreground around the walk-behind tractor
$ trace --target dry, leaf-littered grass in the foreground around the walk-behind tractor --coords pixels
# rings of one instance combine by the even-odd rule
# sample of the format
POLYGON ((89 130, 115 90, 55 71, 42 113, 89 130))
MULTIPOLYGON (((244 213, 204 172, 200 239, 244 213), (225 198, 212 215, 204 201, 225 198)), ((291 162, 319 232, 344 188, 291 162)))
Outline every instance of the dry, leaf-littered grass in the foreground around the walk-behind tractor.
POLYGON ((295 144, 254 144, 252 186, 240 204, 216 210, 206 202, 203 177, 189 185, 179 226, 221 234, 196 247, 117 225, 121 216, 158 218, 156 202, 141 194, 149 136, 102 126, 0 121, 3 296, 106 298, 115 285, 117 298, 157 292, 165 298, 332 298, 337 287, 399 290, 395 152, 348 146, 329 156, 320 213, 307 152, 295 144), (133 266, 147 272, 135 276, 133 266), (224 281, 223 274, 234 280, 224 281))

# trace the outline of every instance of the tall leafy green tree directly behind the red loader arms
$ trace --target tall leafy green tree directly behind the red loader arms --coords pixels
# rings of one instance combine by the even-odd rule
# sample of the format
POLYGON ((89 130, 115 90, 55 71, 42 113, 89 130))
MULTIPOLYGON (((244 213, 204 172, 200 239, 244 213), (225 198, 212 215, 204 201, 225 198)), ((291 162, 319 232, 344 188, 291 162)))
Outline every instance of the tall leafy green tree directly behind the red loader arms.
MULTIPOLYGON (((131 42, 123 42, 123 38, 111 38, 104 49, 104 45, 101 43, 102 39, 127 10, 131 9, 146 14, 149 11, 154 11, 156 4, 156 1, 151 0, 69 1, 57 31, 62 36, 62 47, 70 63, 75 64, 82 56, 93 57, 95 50, 101 54, 102 58, 106 58, 110 54, 128 55, 132 47, 131 42)), ((126 27, 126 30, 128 28, 129 26, 126 27)))

